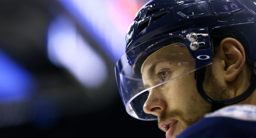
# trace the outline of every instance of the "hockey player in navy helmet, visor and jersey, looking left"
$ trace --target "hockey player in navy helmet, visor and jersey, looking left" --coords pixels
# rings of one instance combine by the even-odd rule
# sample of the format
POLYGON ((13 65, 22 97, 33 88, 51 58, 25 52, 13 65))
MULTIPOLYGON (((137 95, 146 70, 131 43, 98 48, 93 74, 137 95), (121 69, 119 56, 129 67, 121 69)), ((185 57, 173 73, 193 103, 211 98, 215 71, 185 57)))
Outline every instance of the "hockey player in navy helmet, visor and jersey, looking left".
POLYGON ((256 137, 256 1, 152 0, 115 66, 127 113, 166 137, 256 137))

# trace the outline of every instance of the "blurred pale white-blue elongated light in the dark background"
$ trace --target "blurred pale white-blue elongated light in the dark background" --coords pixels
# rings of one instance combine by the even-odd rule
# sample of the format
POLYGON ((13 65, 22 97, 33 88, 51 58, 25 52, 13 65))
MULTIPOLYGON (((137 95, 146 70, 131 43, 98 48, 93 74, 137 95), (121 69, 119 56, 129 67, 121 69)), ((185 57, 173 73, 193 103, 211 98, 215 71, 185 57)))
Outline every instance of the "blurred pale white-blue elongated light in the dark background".
POLYGON ((67 68, 87 88, 99 87, 106 81, 106 63, 84 41, 69 18, 56 17, 47 37, 48 57, 54 64, 67 68))

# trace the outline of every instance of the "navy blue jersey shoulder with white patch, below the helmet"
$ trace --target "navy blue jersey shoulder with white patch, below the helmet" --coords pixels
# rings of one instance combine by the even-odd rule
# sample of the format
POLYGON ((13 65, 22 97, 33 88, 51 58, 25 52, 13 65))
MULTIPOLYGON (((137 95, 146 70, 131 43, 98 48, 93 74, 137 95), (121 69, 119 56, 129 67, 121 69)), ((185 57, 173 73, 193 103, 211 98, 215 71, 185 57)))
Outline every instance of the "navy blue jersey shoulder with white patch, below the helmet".
POLYGON ((256 106, 232 105, 206 114, 177 138, 256 138, 256 106))

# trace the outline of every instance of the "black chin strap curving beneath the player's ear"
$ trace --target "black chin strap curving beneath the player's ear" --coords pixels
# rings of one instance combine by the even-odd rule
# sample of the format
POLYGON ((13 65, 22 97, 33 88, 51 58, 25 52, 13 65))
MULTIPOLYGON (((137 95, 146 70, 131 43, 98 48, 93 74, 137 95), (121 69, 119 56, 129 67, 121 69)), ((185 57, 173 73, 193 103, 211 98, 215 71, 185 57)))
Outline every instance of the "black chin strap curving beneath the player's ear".
POLYGON ((219 108, 222 108, 224 106, 236 104, 243 101, 244 99, 248 98, 256 88, 256 61, 254 61, 253 73, 251 74, 251 79, 250 79, 251 84, 244 93, 234 98, 226 99, 226 100, 213 99, 206 94, 203 88, 205 68, 206 67, 203 67, 195 71, 195 80, 197 83, 197 91, 199 92, 200 96, 204 99, 205 102, 212 105, 211 112, 218 110, 219 108))

